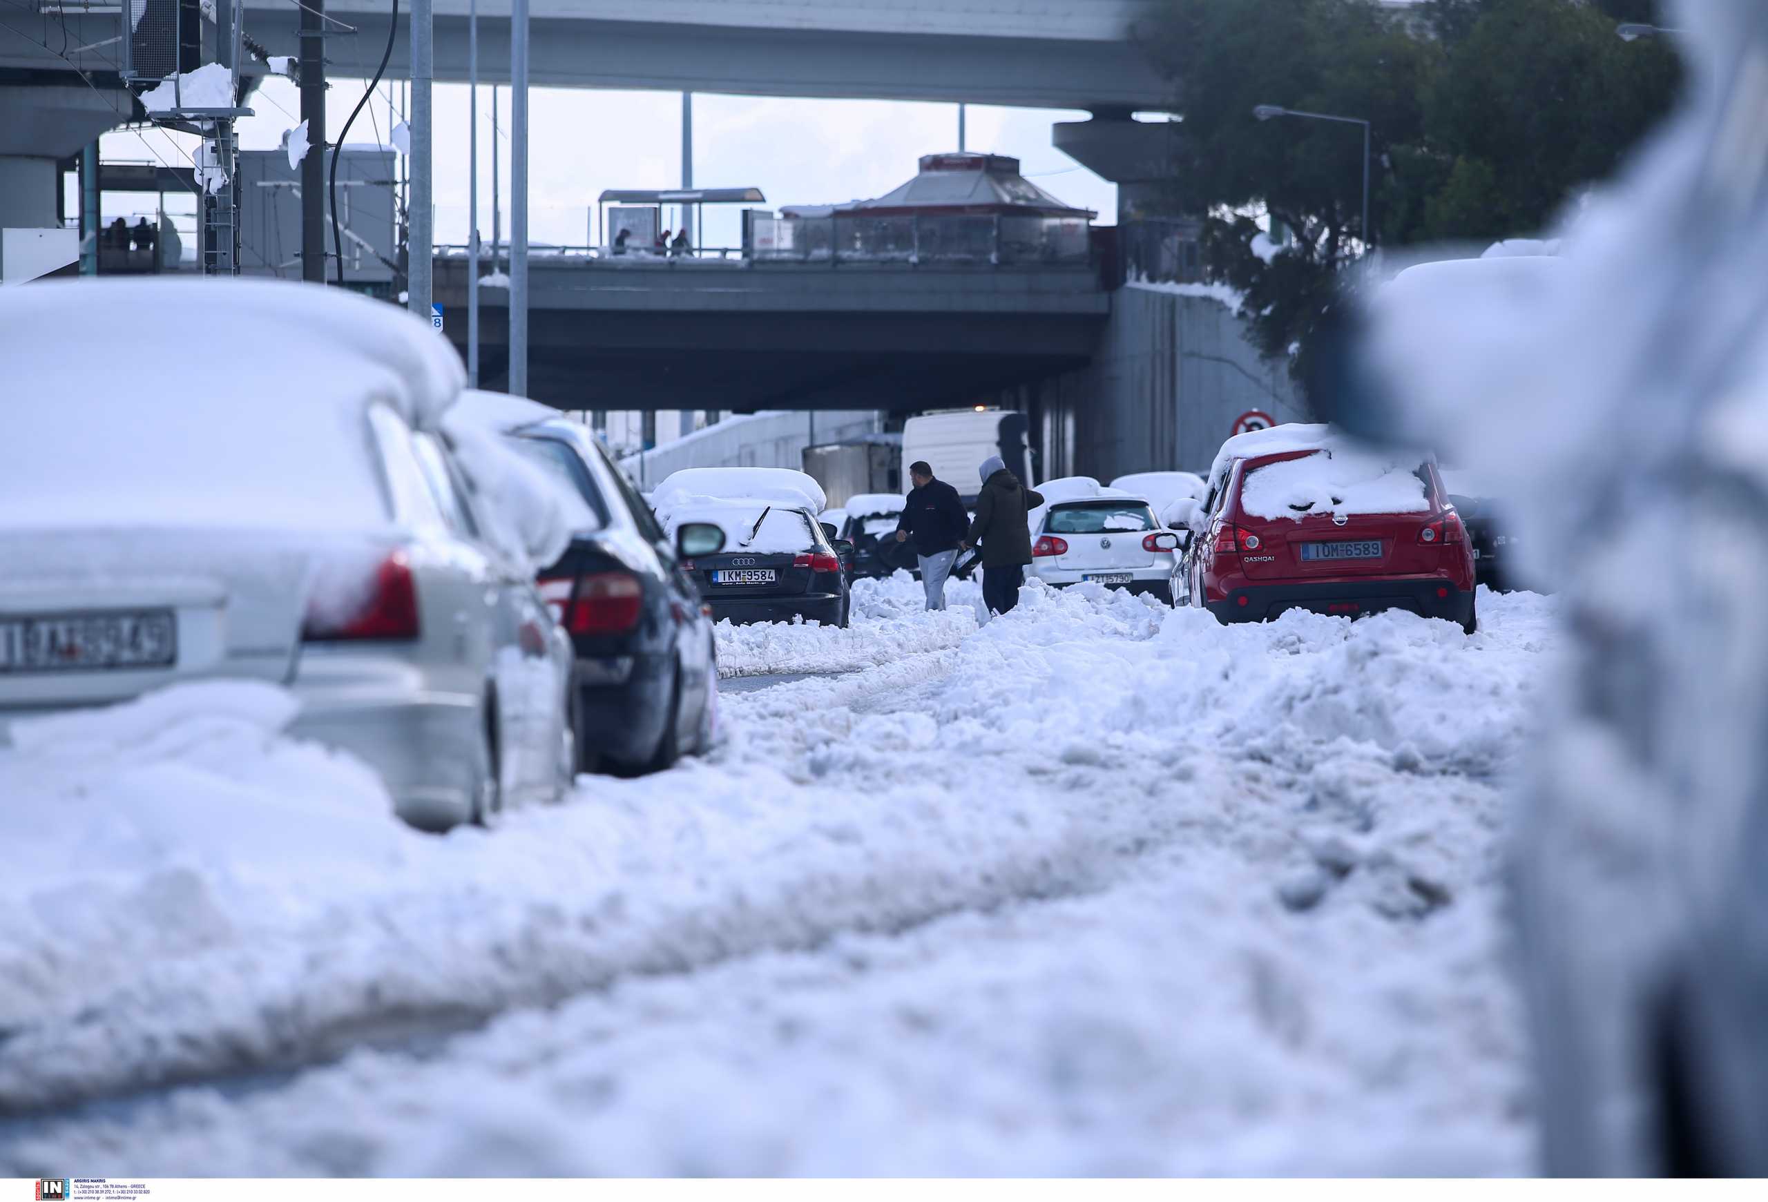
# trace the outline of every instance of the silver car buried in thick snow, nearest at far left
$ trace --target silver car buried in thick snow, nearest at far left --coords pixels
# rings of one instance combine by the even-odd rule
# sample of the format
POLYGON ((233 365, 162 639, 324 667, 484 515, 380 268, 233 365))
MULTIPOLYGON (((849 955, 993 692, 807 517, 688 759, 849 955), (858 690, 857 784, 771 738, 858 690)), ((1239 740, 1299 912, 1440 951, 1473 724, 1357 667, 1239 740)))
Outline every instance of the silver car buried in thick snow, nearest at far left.
POLYGON ((0 742, 263 681, 414 825, 559 795, 569 645, 440 430, 442 338, 345 292, 157 279, 0 290, 0 742), (170 350, 193 331, 200 361, 170 350))

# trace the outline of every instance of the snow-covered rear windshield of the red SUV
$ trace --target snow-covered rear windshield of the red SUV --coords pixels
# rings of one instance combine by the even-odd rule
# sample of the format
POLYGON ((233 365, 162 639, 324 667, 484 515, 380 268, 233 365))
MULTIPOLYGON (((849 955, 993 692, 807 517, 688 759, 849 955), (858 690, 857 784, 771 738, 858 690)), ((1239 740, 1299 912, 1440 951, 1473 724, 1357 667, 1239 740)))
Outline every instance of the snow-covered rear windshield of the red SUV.
POLYGON ((1296 518, 1310 513, 1425 513, 1430 509, 1430 468, 1416 460, 1335 449, 1278 460, 1246 472, 1239 507, 1254 518, 1296 518))

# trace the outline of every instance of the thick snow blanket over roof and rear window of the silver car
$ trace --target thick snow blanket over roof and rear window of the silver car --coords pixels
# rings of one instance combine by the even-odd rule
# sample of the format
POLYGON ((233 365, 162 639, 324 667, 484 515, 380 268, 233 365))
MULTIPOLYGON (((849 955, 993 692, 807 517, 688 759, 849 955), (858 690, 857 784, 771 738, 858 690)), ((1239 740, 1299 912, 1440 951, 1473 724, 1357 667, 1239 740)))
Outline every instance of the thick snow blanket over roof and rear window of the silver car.
POLYGON ((272 279, 0 288, 0 523, 361 529, 370 410, 435 430, 465 373, 428 323, 272 279))

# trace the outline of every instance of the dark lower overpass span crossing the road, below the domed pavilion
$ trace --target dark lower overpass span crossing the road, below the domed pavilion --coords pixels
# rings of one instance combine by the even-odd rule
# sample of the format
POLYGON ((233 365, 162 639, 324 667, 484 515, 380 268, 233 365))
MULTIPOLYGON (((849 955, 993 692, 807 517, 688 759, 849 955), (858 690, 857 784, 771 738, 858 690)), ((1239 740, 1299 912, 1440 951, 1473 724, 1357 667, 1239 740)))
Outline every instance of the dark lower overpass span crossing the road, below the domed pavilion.
MULTIPOLYGON (((467 260, 435 260, 465 355, 467 260)), ((507 292, 479 290, 481 382, 507 371, 507 292)), ((1094 267, 529 260, 529 392, 562 408, 918 410, 1089 361, 1094 267)))

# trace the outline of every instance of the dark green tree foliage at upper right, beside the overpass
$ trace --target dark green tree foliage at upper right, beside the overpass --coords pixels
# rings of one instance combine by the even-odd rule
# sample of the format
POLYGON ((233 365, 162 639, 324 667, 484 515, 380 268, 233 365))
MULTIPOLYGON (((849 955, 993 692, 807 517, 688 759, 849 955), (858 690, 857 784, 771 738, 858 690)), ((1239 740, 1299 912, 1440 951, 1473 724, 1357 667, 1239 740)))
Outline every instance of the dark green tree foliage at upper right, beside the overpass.
POLYGON ((1140 34, 1185 122, 1174 207, 1209 214, 1208 272, 1246 292, 1261 346, 1287 352, 1363 251, 1363 141, 1254 106, 1370 120, 1376 242, 1524 235, 1669 111, 1674 46, 1614 35, 1651 19, 1651 0, 1158 0, 1140 34), (1291 247, 1261 256, 1248 214, 1291 247))

